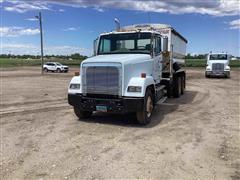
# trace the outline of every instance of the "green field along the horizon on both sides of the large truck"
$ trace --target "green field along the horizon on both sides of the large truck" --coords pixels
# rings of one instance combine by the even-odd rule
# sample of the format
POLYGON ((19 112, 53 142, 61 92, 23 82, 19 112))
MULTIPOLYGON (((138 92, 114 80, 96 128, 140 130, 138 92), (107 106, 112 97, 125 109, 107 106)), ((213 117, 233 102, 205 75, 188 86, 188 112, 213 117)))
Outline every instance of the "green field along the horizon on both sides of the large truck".
MULTIPOLYGON (((45 60, 45 62, 51 60, 45 60)), ((66 59, 58 59, 52 60, 60 62, 64 65, 68 66, 79 66, 81 60, 66 60, 66 59)), ((20 67, 20 66, 40 66, 41 60, 39 59, 9 59, 9 58, 0 58, 0 67, 20 67)), ((186 67, 205 67, 206 60, 204 59, 186 59, 186 67)), ((240 61, 231 61, 231 67, 240 67, 240 61)))

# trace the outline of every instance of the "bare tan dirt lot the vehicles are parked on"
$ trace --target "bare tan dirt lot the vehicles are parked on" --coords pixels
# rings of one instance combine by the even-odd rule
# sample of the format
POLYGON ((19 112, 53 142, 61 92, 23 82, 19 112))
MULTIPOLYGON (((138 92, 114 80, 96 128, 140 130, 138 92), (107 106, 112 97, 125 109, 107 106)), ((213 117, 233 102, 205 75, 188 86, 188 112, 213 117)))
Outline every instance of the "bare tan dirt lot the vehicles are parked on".
POLYGON ((240 179, 240 70, 187 69, 186 93, 144 127, 132 115, 79 121, 67 104, 73 71, 1 70, 1 179, 240 179))

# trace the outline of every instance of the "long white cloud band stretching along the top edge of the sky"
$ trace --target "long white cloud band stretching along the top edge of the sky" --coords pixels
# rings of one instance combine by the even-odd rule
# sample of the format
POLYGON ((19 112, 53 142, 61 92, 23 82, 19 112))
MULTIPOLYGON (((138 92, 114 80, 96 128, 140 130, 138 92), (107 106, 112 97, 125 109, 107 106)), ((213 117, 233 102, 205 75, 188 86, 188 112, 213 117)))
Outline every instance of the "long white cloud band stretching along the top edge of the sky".
POLYGON ((22 0, 10 1, 7 11, 26 12, 30 10, 50 10, 50 4, 71 7, 91 7, 103 12, 104 8, 137 10, 144 12, 165 12, 171 14, 197 13, 212 16, 234 16, 240 14, 239 0, 22 0))

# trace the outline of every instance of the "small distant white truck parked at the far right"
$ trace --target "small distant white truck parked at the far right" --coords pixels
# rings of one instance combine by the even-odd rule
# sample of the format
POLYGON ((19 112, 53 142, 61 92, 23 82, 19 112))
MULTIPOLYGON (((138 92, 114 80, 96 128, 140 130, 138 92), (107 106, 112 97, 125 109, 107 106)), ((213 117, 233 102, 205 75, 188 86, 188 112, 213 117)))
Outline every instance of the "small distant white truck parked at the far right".
POLYGON ((230 55, 227 53, 210 53, 207 56, 207 67, 205 76, 223 76, 230 77, 230 55))

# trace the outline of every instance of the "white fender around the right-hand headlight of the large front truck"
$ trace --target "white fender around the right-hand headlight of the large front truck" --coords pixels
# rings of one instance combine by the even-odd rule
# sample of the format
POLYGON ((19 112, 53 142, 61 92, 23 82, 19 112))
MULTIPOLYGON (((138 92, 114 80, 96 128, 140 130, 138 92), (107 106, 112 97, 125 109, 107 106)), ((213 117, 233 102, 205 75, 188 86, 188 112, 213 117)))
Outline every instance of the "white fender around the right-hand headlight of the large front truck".
POLYGON ((146 89, 150 85, 155 85, 155 82, 154 82, 152 76, 147 76, 146 78, 133 77, 130 79, 130 81, 125 89, 124 96, 126 96, 126 97, 144 97, 146 89), (142 92, 128 92, 127 91, 128 86, 141 86, 142 92))

